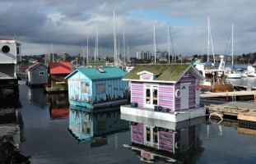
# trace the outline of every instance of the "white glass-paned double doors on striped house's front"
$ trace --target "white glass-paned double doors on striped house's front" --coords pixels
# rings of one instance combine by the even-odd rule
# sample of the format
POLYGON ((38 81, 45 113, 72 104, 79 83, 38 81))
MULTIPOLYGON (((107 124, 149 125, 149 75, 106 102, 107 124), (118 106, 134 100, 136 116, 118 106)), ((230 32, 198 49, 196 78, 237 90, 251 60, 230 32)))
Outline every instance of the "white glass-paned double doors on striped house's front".
POLYGON ((147 84, 144 87, 144 106, 153 108, 158 105, 158 86, 147 84))

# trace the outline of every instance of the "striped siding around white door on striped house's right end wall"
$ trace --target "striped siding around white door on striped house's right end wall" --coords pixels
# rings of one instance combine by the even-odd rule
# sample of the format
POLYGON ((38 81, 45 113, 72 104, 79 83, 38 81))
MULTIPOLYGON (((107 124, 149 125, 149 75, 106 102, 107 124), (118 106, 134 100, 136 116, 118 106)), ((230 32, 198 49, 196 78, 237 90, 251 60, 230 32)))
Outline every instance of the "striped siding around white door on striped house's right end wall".
MULTIPOLYGON (((180 78, 180 83, 189 84, 189 109, 196 107, 196 80, 197 78, 189 71, 180 78), (189 73, 189 74, 188 74, 189 73)), ((180 84, 175 84, 175 91, 180 89, 180 84)), ((175 111, 180 111, 180 98, 175 98, 175 111)))

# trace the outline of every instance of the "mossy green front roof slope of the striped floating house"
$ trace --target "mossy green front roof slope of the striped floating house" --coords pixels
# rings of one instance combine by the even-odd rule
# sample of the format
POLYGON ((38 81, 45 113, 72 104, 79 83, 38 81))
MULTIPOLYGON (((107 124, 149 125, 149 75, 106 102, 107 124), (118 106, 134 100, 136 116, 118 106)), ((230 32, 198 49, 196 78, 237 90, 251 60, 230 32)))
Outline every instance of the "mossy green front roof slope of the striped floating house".
POLYGON ((183 75, 190 64, 156 64, 156 65, 137 65, 127 75, 123 77, 124 80, 140 80, 141 71, 149 71, 151 73, 160 73, 154 80, 163 81, 177 81, 183 75))

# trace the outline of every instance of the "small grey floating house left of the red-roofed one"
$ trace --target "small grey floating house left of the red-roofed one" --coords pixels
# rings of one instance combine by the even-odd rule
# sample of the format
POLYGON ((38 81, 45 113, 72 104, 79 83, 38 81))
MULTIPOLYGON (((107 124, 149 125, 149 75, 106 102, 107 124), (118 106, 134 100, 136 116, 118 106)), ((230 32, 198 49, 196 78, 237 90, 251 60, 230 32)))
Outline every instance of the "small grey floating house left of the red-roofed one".
POLYGON ((40 62, 36 62, 34 65, 26 69, 27 81, 26 84, 30 86, 38 86, 48 84, 47 74, 48 67, 40 62))

